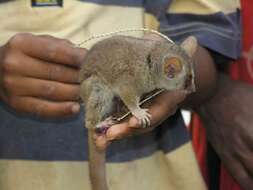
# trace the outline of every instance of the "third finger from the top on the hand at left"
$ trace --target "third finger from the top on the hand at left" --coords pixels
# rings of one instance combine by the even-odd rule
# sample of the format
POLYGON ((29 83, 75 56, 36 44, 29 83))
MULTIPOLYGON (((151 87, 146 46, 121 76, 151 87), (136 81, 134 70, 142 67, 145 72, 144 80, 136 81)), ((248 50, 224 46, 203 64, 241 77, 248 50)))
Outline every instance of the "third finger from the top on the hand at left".
POLYGON ((10 94, 32 96, 55 101, 79 100, 79 85, 65 84, 28 77, 9 76, 7 79, 10 94))

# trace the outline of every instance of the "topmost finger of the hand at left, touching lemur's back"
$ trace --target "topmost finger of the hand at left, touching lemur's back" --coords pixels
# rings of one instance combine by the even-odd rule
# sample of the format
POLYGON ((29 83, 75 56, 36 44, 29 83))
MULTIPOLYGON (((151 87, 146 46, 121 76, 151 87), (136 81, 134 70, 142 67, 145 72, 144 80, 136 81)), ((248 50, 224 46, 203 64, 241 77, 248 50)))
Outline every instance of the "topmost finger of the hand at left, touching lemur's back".
POLYGON ((86 50, 76 48, 70 41, 52 36, 17 34, 10 40, 10 46, 19 48, 25 54, 45 61, 80 66, 86 50))

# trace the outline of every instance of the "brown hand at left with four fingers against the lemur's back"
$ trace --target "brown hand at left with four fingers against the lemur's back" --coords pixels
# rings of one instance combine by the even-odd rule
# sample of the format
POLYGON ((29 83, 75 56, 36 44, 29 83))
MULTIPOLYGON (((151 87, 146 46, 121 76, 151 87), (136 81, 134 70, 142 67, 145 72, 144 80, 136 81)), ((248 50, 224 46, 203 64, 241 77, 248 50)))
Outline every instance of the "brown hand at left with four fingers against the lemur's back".
POLYGON ((52 36, 16 34, 0 47, 0 97, 15 111, 62 117, 80 109, 85 50, 52 36))

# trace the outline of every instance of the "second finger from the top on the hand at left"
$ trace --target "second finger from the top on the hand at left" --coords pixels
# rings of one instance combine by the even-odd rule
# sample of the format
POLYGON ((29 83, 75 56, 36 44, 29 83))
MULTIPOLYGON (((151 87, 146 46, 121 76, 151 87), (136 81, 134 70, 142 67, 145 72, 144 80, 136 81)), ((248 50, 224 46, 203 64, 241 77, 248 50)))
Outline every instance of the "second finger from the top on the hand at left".
POLYGON ((23 54, 16 59, 20 61, 9 62, 9 66, 6 66, 7 72, 32 78, 78 83, 79 69, 49 63, 23 54))

